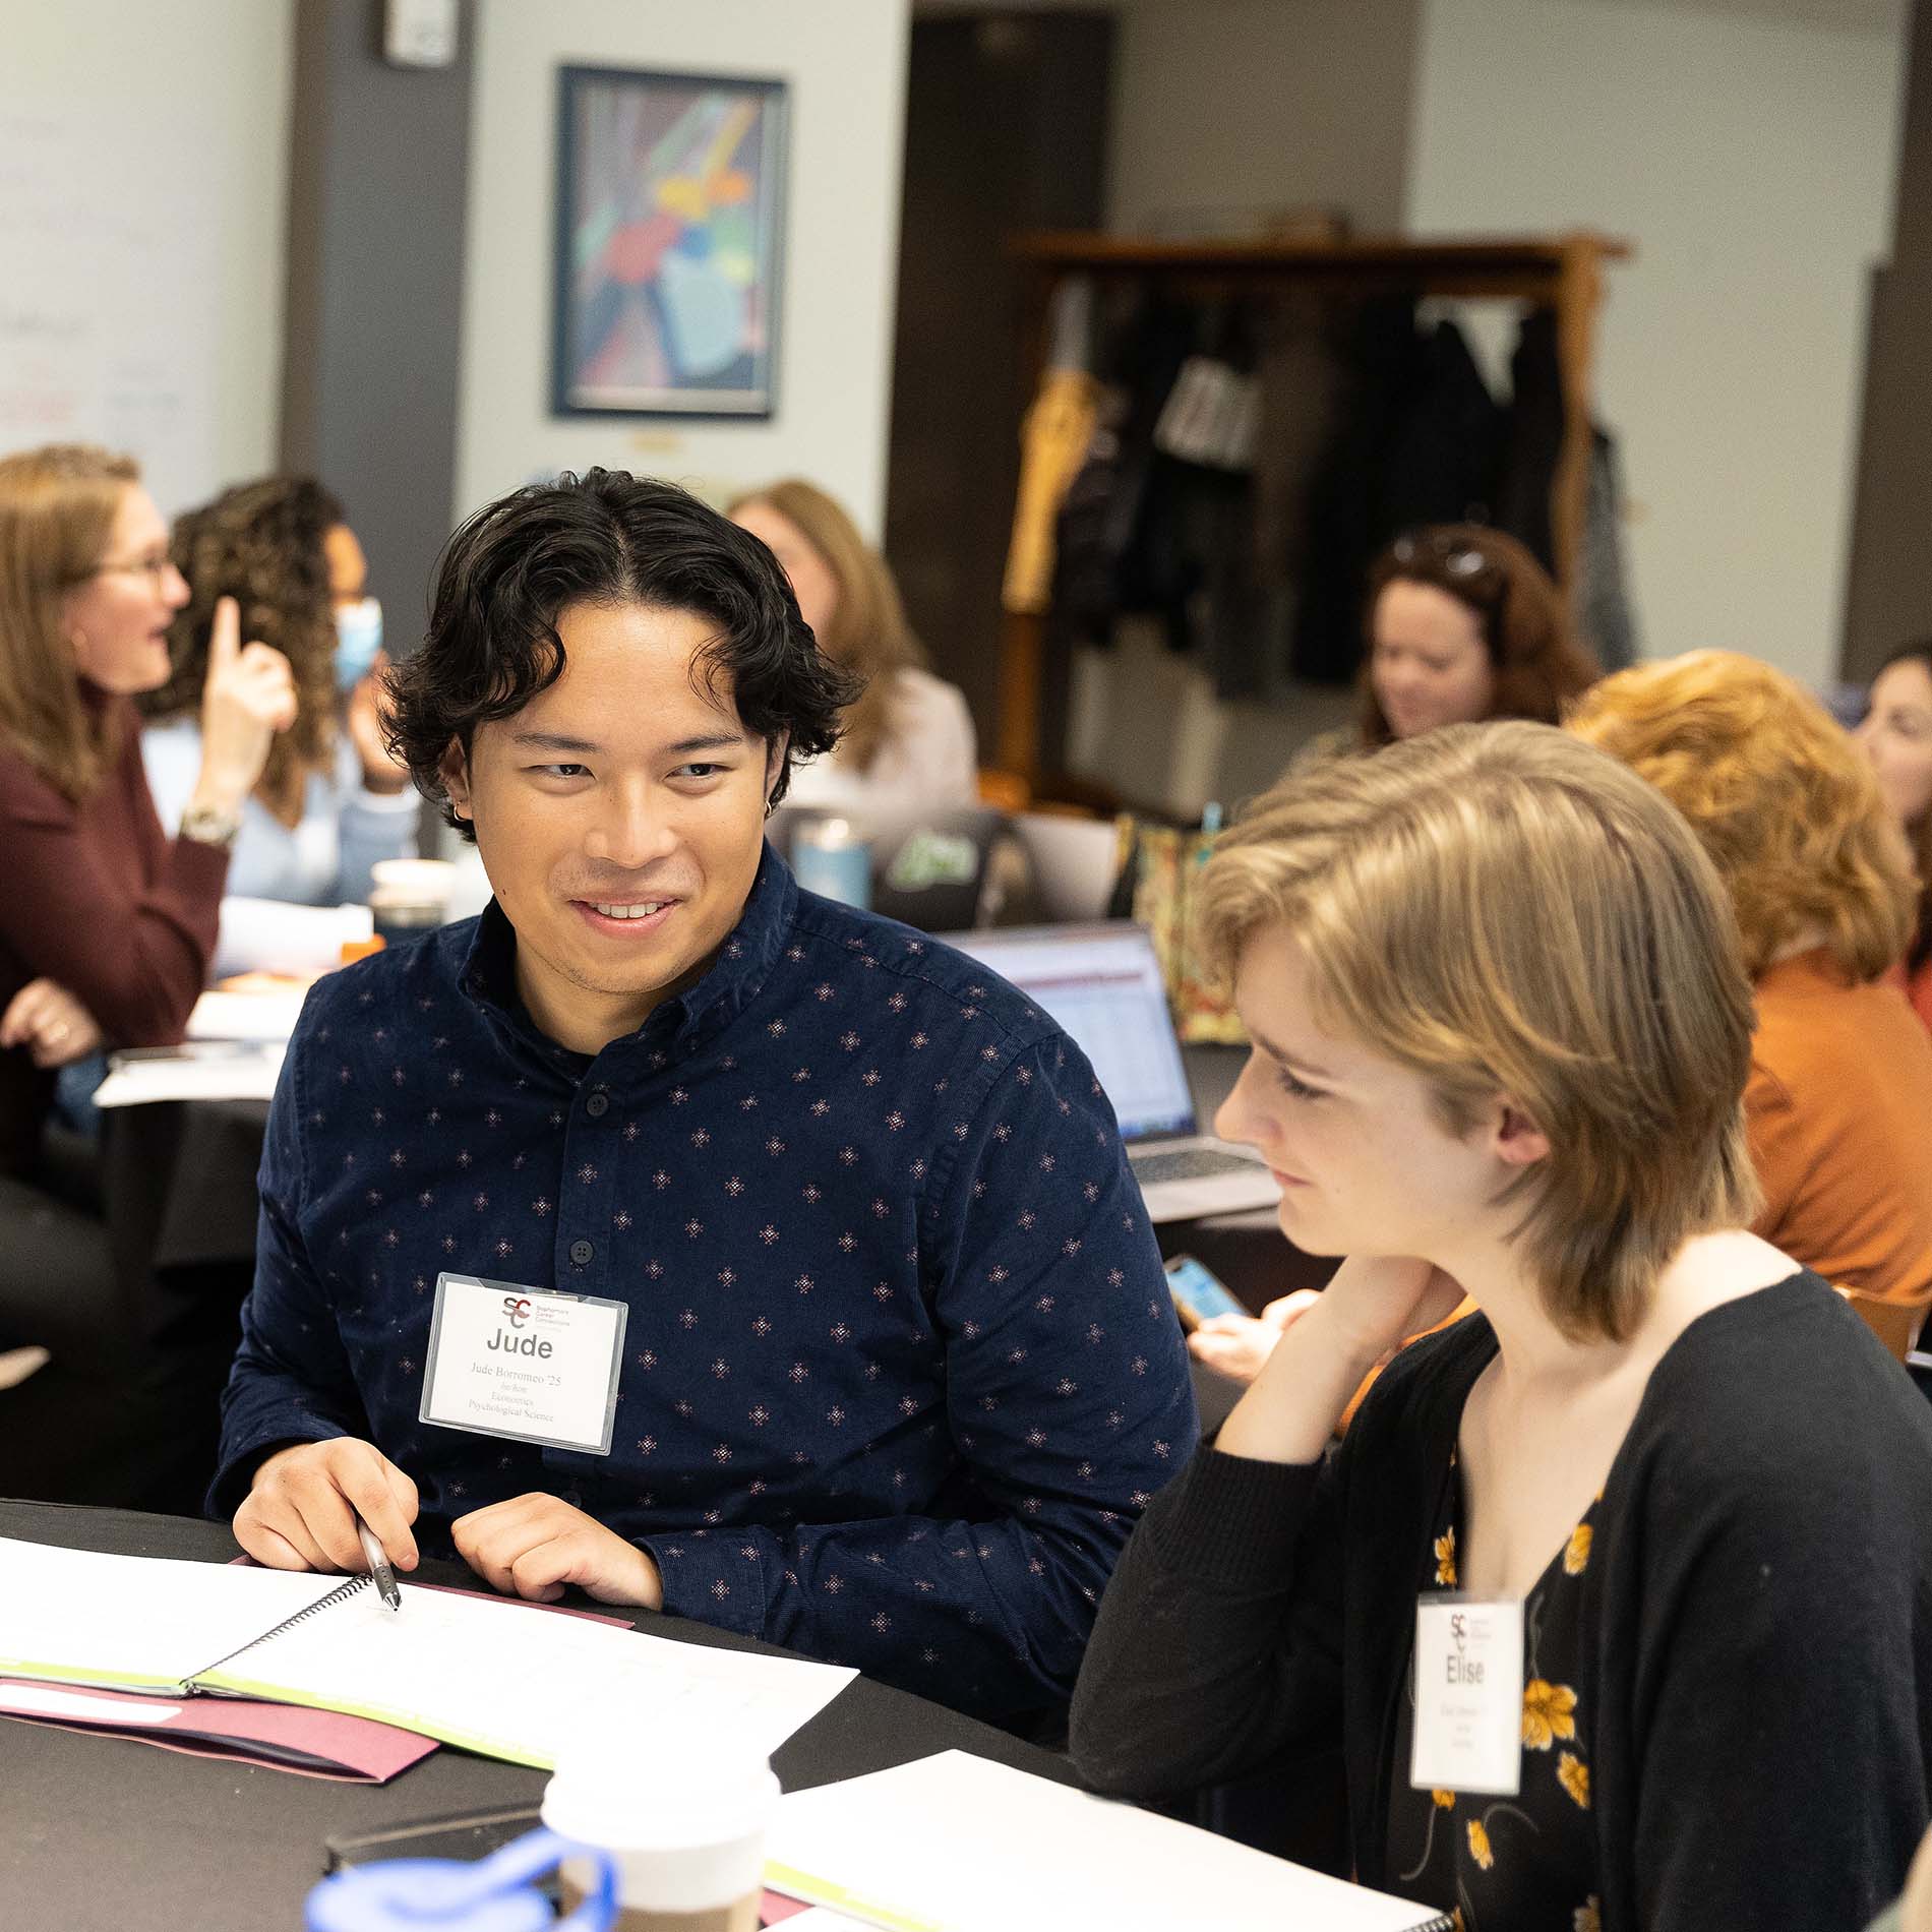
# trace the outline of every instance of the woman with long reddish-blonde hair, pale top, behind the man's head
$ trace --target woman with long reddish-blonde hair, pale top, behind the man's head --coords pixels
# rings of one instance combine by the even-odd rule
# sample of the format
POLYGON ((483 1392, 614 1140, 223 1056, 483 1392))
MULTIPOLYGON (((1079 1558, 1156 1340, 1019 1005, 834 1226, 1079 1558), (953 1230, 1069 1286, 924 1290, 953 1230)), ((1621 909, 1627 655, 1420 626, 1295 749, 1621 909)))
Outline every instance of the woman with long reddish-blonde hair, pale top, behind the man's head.
POLYGON ((885 558, 815 483, 796 477, 728 510, 784 566, 819 649, 866 678, 838 750, 792 773, 794 806, 908 813, 980 796, 966 697, 925 668, 885 558))

